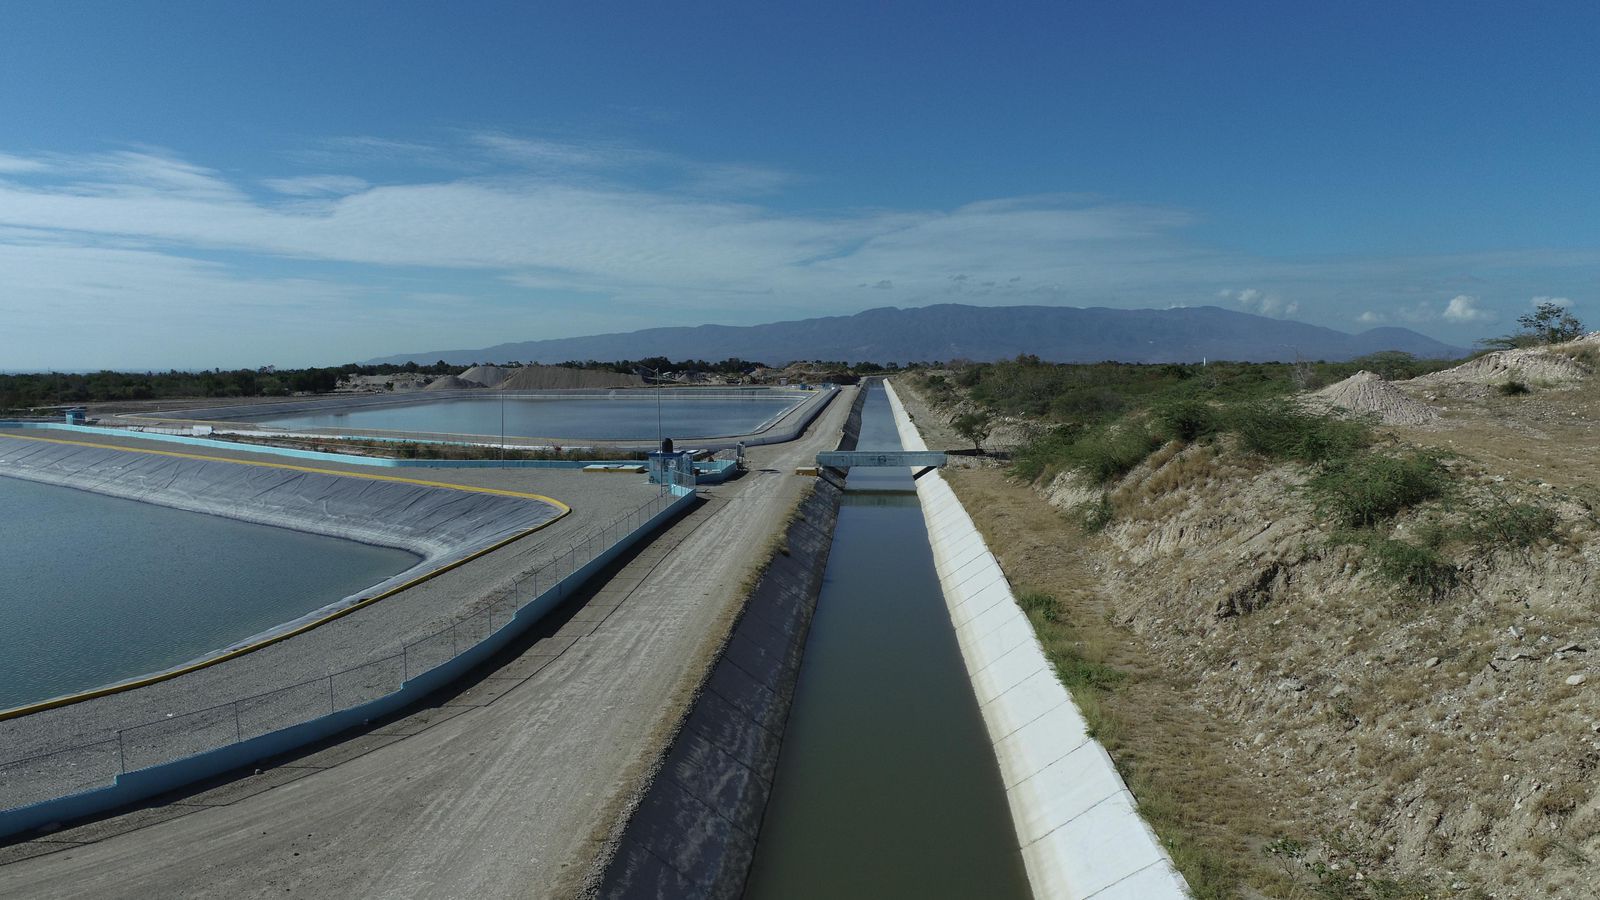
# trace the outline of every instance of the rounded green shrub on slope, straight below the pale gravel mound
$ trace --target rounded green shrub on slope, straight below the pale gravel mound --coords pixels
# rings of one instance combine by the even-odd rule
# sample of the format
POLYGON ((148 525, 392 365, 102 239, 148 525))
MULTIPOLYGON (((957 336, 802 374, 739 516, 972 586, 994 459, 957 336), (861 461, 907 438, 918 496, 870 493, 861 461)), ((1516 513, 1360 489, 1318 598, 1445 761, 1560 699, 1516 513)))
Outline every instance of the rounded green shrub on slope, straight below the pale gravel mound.
POLYGON ((1363 452, 1325 464, 1306 487, 1336 524, 1366 528, 1402 509, 1443 496, 1450 476, 1430 453, 1389 456, 1363 452))

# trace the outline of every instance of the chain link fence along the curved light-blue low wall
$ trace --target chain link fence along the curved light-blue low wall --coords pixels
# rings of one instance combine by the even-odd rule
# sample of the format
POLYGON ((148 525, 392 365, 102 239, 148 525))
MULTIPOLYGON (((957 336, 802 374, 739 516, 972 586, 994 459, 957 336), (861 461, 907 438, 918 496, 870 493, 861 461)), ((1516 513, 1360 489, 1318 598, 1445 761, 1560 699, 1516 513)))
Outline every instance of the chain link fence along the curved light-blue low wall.
MULTIPOLYGON (((512 589, 392 653, 358 666, 205 709, 118 729, 110 737, 0 762, 0 810, 110 785, 118 775, 218 749, 387 697, 483 642, 542 593, 659 516, 686 492, 677 479, 648 503, 576 536, 565 551, 514 580, 512 589)), ((3 724, 0 724, 3 727, 3 724)))

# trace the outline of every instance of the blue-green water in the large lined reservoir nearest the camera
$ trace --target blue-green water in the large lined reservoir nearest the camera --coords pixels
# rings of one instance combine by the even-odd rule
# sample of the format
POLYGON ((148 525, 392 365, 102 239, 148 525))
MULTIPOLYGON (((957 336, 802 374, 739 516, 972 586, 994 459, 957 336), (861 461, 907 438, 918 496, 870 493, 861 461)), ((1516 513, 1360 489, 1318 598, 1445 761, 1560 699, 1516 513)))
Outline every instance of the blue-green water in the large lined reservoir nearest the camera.
POLYGON ((160 671, 414 554, 0 477, 0 709, 160 671))

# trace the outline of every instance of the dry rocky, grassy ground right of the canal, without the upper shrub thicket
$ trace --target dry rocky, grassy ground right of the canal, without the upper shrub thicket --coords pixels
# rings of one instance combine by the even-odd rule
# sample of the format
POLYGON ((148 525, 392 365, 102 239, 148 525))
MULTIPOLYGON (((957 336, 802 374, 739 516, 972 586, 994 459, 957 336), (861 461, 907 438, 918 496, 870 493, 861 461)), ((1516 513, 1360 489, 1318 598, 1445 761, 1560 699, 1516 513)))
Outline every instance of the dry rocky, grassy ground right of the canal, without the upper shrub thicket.
MULTIPOLYGON (((1157 452, 1112 485, 1099 533, 1072 524, 1099 496, 1074 476, 952 472, 1013 581, 1061 597, 1128 673, 1102 743, 1141 804, 1186 810, 1168 820, 1221 873, 1205 895, 1595 895, 1600 383, 1506 396, 1504 365, 1477 368, 1395 386, 1438 418, 1384 440, 1450 453, 1454 487, 1392 535, 1510 504, 1550 528, 1446 546, 1454 585, 1426 599, 1336 535, 1304 469, 1226 440, 1157 452)), ((950 412, 912 399, 930 445, 962 445, 950 412)))

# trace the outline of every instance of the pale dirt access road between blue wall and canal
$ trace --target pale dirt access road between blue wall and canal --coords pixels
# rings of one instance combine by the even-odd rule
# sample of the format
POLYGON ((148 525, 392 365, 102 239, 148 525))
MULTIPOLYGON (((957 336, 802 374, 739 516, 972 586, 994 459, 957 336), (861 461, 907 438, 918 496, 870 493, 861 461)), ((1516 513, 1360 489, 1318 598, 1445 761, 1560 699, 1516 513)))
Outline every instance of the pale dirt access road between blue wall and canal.
POLYGON ((166 804, 0 847, 0 897, 571 894, 661 753, 746 575, 837 440, 805 437, 576 597, 520 653, 437 706, 166 804))

